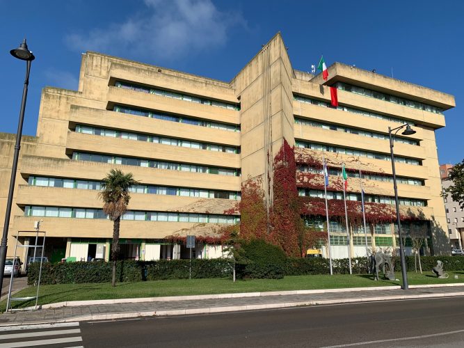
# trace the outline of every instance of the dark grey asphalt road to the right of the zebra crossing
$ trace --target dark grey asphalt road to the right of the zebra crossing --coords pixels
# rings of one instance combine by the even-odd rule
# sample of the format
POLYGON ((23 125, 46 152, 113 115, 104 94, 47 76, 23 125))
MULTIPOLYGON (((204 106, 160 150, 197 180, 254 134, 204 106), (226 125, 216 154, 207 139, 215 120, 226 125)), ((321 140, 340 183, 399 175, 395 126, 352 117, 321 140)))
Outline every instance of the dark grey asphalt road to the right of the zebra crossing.
POLYGON ((464 297, 454 297, 81 322, 80 327, 84 347, 463 347, 463 316, 464 297))

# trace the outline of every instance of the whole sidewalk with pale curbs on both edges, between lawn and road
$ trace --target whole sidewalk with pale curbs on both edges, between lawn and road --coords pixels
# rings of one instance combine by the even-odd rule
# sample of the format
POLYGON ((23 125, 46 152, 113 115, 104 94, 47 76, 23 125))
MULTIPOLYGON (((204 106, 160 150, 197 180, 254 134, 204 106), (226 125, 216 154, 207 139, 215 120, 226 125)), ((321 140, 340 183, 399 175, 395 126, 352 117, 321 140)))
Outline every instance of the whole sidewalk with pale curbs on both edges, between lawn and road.
MULTIPOLYGON (((314 306, 318 304, 387 301, 399 299, 464 296, 464 285, 415 285, 408 291, 398 287, 376 287, 336 290, 299 290, 252 294, 179 296, 151 299, 74 301, 48 305, 49 308, 0 315, 0 326, 75 322, 83 320, 121 319, 162 315, 189 315, 266 308, 314 306), (130 301, 130 302, 129 302, 130 301), (118 303, 109 303, 118 302, 118 303), (65 305, 65 306, 63 306, 65 305)), ((45 307, 45 306, 44 306, 45 307)))

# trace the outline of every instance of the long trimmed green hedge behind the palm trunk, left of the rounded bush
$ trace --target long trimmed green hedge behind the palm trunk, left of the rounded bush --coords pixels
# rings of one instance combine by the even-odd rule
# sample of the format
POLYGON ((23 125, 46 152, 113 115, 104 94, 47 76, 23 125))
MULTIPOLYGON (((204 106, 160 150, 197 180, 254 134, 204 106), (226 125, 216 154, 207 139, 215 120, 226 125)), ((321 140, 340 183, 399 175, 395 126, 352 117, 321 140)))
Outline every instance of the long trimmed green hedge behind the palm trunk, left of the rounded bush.
MULTIPOLYGON (((188 279, 189 260, 118 261, 118 282, 188 279)), ((192 278, 222 278, 232 274, 227 259, 193 259, 192 278)), ((67 262, 42 264, 40 284, 110 283, 112 262, 67 262)), ((40 264, 29 265, 27 282, 37 283, 40 264)))

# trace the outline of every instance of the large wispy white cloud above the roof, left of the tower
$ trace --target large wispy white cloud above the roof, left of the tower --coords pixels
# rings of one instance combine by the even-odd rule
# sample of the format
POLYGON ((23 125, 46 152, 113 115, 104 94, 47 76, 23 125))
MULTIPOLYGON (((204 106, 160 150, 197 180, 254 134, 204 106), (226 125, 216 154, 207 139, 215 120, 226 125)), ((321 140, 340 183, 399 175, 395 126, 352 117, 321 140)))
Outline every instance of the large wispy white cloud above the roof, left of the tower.
POLYGON ((221 47, 234 26, 246 26, 239 13, 221 12, 210 0, 145 0, 145 12, 86 34, 67 35, 68 45, 127 56, 175 59, 221 47))

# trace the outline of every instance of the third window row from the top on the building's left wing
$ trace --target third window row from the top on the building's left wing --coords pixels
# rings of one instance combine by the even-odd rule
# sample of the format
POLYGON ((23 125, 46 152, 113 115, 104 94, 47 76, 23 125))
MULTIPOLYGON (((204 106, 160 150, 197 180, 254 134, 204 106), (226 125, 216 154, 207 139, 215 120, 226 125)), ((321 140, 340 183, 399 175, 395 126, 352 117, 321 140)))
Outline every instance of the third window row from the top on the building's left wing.
POLYGON ((99 127, 89 127, 76 125, 76 132, 82 134, 93 134, 99 136, 109 136, 111 138, 121 138, 129 140, 147 141, 149 143, 159 143, 165 145, 181 146, 182 148, 202 149, 227 153, 240 153, 239 148, 233 146, 200 143, 183 139, 165 138, 162 136, 151 136, 140 133, 121 132, 115 129, 104 129, 99 127))

